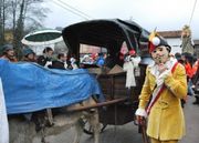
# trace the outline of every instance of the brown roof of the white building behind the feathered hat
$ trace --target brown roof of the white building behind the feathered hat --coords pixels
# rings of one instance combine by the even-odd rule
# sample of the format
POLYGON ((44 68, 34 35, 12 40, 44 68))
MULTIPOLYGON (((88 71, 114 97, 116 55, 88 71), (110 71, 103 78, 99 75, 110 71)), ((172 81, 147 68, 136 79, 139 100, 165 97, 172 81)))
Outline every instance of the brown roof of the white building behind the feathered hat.
POLYGON ((158 31, 158 33, 164 38, 180 38, 181 30, 176 31, 158 31))

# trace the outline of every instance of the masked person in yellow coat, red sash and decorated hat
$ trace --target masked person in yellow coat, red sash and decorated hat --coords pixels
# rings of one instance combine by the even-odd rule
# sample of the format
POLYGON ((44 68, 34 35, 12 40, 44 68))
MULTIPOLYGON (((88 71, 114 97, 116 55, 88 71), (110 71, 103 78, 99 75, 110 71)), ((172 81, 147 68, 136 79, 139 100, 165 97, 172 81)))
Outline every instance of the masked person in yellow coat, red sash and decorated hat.
POLYGON ((149 52, 154 63, 147 67, 135 114, 139 123, 147 119, 146 132, 151 143, 178 143, 185 135, 180 99, 187 95, 187 75, 184 65, 169 57, 170 51, 163 37, 156 32, 150 34, 149 52))

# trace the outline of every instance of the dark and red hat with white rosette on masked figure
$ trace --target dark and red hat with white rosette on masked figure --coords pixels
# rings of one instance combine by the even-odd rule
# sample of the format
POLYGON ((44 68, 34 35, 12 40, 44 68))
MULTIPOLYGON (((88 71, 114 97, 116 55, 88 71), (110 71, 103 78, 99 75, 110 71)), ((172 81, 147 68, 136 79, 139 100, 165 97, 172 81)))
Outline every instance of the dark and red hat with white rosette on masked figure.
POLYGON ((148 38, 148 51, 151 53, 157 47, 165 45, 167 50, 170 52, 171 47, 167 43, 167 41, 159 35, 156 30, 154 30, 148 38))

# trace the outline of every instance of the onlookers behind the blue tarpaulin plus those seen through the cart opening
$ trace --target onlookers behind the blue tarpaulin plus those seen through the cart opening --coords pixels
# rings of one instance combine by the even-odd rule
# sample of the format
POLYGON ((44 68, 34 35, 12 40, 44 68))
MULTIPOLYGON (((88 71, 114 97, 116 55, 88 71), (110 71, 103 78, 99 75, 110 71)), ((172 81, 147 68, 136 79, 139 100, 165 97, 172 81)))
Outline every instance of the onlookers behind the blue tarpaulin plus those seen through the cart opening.
MULTIPOLYGON (((35 52, 25 47, 22 50, 22 59, 18 60, 15 57, 14 48, 12 44, 4 44, 2 47, 2 59, 9 60, 10 62, 35 62, 42 67, 49 68, 49 69, 61 69, 61 70, 72 70, 77 69, 77 60, 75 55, 67 55, 66 53, 57 53, 56 57, 54 57, 54 51, 52 48, 46 47, 43 50, 42 55, 36 55, 35 52)), ((103 67, 106 62, 107 54, 106 53, 93 53, 92 55, 85 54, 81 63, 85 64, 96 64, 97 67, 103 67)), ((80 64, 81 67, 81 64, 80 64)), ((82 67, 81 67, 82 68, 82 67)))

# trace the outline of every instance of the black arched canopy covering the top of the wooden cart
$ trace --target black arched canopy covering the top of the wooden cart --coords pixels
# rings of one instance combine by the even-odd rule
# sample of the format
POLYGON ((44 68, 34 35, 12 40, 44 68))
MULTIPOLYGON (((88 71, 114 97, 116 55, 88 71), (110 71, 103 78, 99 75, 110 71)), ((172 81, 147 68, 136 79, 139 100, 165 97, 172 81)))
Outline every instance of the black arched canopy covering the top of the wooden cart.
POLYGON ((108 52, 116 53, 124 41, 128 49, 147 49, 149 32, 134 21, 91 20, 66 27, 62 31, 63 39, 71 53, 78 55, 80 43, 105 47, 108 52))

